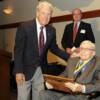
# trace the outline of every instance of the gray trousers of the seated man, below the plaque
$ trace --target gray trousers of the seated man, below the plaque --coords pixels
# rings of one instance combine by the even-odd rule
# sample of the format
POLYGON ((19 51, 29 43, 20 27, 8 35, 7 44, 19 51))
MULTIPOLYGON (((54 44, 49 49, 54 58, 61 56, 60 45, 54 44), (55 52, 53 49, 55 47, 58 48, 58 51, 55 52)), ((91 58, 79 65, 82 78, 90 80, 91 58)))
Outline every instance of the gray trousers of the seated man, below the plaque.
POLYGON ((84 94, 68 94, 52 90, 43 90, 40 92, 41 100, 100 100, 100 97, 88 98, 84 94))

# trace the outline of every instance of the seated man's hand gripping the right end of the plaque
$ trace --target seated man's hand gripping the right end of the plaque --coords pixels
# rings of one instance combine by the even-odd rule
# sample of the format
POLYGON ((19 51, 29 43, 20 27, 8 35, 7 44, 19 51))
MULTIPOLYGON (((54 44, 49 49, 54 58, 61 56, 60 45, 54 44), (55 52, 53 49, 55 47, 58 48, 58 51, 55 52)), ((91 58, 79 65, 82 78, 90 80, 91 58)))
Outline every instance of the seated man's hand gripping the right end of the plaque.
POLYGON ((84 89, 84 85, 79 83, 66 82, 65 86, 71 89, 73 92, 83 92, 84 89))

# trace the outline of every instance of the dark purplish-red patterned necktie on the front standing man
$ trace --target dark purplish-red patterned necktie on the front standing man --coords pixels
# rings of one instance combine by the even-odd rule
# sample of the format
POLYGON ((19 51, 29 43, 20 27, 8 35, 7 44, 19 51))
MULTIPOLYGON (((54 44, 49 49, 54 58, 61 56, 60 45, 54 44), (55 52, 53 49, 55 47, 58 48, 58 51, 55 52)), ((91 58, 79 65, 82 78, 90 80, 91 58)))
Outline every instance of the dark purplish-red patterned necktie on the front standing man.
POLYGON ((40 27, 40 34, 39 34, 39 54, 41 55, 43 52, 44 47, 44 34, 43 34, 43 26, 40 27))

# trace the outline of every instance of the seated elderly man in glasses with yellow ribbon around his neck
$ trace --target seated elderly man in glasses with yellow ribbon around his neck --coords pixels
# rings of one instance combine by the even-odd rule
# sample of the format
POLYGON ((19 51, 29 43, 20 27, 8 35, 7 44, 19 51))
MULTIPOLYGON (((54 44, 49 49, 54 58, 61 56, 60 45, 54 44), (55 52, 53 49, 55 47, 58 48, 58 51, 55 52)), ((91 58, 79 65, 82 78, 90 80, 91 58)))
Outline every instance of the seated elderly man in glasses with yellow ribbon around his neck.
MULTIPOLYGON (((95 55, 95 44, 85 40, 80 45, 78 57, 71 57, 64 77, 74 78, 75 82, 65 82, 72 94, 58 93, 50 90, 41 91, 41 100, 99 100, 96 93, 100 92, 100 58, 95 55)), ((47 83, 49 88, 52 85, 47 83)))

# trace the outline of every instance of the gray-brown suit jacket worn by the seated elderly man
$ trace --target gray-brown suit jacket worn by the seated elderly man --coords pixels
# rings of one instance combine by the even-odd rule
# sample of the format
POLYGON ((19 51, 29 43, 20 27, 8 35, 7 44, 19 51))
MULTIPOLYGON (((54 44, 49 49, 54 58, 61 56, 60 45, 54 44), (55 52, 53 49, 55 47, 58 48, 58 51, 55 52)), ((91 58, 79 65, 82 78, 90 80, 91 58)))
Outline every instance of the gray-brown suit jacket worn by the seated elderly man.
MULTIPOLYGON (((74 78, 74 70, 79 58, 68 60, 68 66, 61 74, 69 78, 74 78)), ((76 82, 86 85, 86 93, 100 92, 100 58, 94 57, 91 63, 87 64, 84 72, 76 78, 76 82)))

